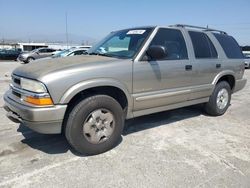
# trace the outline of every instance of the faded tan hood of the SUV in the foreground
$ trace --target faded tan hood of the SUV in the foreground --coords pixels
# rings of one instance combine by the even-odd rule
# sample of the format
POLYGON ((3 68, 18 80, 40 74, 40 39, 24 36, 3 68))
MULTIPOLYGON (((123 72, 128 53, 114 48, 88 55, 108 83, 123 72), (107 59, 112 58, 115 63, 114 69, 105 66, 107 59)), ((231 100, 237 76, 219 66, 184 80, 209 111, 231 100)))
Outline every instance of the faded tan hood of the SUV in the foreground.
POLYGON ((50 73, 56 73, 70 68, 82 68, 90 64, 103 64, 110 61, 118 61, 118 59, 95 55, 72 56, 44 60, 41 59, 16 68, 13 71, 13 74, 25 78, 39 80, 41 77, 50 73))

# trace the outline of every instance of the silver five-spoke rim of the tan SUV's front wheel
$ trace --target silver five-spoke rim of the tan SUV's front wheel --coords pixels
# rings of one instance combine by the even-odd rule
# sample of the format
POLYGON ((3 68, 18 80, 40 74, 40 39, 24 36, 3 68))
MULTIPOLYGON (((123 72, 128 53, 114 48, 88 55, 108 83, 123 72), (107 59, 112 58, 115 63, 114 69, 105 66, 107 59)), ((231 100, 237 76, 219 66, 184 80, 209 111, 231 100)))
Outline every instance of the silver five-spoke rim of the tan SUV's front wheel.
POLYGON ((100 144, 108 140, 114 132, 113 114, 107 109, 91 112, 83 124, 83 135, 91 144, 100 144))

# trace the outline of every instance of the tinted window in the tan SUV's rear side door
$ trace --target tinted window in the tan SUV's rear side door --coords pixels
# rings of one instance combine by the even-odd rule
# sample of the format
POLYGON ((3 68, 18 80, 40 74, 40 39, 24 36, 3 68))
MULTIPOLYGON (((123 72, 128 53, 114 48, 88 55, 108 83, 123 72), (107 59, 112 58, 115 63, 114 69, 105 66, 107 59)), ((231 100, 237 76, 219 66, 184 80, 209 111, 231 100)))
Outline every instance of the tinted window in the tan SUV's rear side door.
POLYGON ((194 47, 196 58, 217 58, 217 51, 205 33, 189 31, 188 32, 194 47))

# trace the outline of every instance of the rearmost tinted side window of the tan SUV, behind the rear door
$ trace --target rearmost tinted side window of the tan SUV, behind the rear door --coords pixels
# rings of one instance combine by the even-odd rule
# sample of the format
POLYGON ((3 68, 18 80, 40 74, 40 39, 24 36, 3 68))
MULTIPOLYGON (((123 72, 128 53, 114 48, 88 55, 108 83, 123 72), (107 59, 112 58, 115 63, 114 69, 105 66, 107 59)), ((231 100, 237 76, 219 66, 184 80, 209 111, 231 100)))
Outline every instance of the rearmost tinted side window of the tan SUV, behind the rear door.
POLYGON ((219 41, 220 45, 222 46, 228 58, 230 59, 243 58, 241 49, 233 37, 218 33, 214 33, 214 36, 219 41))

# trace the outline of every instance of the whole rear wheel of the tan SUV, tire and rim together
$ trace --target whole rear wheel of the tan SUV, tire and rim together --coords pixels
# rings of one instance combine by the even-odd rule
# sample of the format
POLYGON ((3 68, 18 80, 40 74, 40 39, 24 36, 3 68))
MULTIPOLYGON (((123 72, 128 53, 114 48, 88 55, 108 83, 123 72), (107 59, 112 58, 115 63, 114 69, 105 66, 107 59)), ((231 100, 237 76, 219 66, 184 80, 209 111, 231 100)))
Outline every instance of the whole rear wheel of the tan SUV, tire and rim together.
POLYGON ((205 104, 205 111, 212 116, 223 115, 231 101, 231 87, 226 81, 219 82, 205 104))

